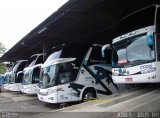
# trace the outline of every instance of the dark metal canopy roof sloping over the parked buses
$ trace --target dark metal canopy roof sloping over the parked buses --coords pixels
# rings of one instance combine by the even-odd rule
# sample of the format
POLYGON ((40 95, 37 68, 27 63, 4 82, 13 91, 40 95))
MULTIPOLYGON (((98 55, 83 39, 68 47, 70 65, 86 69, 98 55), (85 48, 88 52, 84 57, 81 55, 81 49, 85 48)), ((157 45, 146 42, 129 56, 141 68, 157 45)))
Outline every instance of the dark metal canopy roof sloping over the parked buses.
POLYGON ((47 47, 70 42, 111 43, 114 25, 125 15, 159 0, 69 0, 22 38, 0 61, 17 61, 47 47))

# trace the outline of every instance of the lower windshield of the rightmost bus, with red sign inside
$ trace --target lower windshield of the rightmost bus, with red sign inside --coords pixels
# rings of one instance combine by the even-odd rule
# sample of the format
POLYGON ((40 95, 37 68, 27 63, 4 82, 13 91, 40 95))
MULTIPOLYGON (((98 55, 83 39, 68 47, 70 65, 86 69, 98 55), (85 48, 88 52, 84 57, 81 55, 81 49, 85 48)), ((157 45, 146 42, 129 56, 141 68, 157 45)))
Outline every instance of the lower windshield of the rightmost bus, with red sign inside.
POLYGON ((154 45, 147 45, 146 34, 113 44, 113 62, 117 66, 143 63, 153 59, 155 59, 154 45))

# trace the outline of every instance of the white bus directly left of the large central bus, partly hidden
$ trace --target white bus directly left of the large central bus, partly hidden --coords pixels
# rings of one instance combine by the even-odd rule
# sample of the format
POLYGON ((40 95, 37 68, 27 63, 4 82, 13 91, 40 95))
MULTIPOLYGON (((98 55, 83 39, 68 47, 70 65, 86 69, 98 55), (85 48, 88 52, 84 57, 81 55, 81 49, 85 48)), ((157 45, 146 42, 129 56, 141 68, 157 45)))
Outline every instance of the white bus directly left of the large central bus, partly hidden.
POLYGON ((43 54, 35 54, 29 58, 28 66, 23 70, 22 93, 37 94, 37 84, 39 83, 42 63, 43 54))

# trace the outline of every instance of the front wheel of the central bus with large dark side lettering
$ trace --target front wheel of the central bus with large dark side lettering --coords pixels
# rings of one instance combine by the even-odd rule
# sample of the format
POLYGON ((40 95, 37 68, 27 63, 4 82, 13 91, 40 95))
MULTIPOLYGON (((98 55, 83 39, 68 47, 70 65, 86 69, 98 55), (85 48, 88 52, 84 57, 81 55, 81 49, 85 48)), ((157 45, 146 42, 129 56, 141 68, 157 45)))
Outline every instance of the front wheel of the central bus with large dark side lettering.
POLYGON ((96 93, 94 90, 86 90, 83 94, 82 100, 89 101, 94 100, 96 98, 96 93))

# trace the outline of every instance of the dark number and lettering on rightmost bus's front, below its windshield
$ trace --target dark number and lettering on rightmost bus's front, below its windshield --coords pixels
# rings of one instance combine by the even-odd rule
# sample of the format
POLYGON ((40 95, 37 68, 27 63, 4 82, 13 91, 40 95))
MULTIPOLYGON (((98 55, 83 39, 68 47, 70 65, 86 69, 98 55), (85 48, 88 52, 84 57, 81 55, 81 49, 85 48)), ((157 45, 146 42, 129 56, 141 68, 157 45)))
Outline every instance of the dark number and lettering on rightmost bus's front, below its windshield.
POLYGON ((155 67, 152 66, 152 64, 147 64, 147 65, 141 65, 140 66, 140 70, 141 70, 141 73, 151 73, 153 71, 156 70, 155 67))

